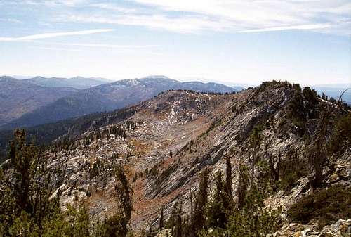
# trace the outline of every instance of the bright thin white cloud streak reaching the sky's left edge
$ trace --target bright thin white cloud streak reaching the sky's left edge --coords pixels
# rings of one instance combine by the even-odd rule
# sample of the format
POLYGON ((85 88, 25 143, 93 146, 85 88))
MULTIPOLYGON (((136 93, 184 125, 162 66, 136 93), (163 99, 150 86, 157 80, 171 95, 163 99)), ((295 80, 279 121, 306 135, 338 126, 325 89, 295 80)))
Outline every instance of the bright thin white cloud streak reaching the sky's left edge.
POLYGON ((45 34, 32 34, 25 37, 0 37, 0 41, 28 41, 32 39, 46 39, 54 37, 64 37, 69 35, 81 35, 81 34, 96 34, 102 32, 112 32, 113 29, 96 29, 96 30, 80 30, 73 32, 55 32, 55 33, 45 33, 45 34))

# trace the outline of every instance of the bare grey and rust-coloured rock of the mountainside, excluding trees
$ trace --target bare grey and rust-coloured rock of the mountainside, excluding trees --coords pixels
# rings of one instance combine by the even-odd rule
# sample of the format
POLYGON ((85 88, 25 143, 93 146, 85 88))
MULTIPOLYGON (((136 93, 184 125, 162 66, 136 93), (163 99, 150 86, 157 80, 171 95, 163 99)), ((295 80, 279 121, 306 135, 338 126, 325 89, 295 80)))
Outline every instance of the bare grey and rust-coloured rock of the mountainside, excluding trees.
MULTIPOLYGON (((166 218, 176 201, 182 200, 183 210, 189 210, 189 194, 197 188, 199 172, 210 167, 212 176, 217 170, 224 170, 225 156, 232 161, 235 191, 239 160, 248 167, 251 165, 250 136, 254 127, 260 127, 262 139, 256 149, 257 160, 272 162, 276 168, 278 162, 293 157, 291 167, 303 169, 305 174, 286 191, 274 191, 265 200, 265 205, 272 208, 283 207, 282 228, 272 236, 328 236, 329 232, 333 236, 340 226, 350 233, 348 220, 340 221, 338 227, 326 226, 324 231, 317 230, 315 223, 290 223, 287 217, 286 211, 293 203, 312 193, 304 137, 317 136, 320 111, 327 108, 333 115, 343 113, 333 104, 317 101, 306 108, 307 125, 302 134, 289 117, 293 95, 294 89, 284 83, 265 84, 229 95, 168 91, 135 105, 131 108, 133 115, 117 123, 124 127, 126 139, 111 133, 116 124, 94 123, 70 148, 48 150, 52 166, 62 173, 56 177, 62 207, 64 203, 84 200, 93 216, 112 213, 116 206, 113 167, 121 164, 134 193, 131 226, 134 229, 156 226, 162 206, 166 218)), ((340 159, 330 159, 324 167, 326 186, 350 186, 350 164, 350 152, 340 159)), ((255 177, 258 169, 256 166, 253 171, 255 177)))

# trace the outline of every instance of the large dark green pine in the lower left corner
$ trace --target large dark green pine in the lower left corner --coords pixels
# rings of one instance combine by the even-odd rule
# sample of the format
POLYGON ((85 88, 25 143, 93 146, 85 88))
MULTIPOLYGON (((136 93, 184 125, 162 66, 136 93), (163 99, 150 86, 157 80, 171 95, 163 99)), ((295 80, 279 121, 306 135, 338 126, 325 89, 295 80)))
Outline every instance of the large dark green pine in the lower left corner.
POLYGON ((0 236, 17 236, 24 228, 39 235, 44 222, 60 214, 58 198, 49 200, 52 189, 47 159, 33 143, 27 144, 25 131, 20 129, 14 132, 8 157, 11 165, 0 170, 0 236))

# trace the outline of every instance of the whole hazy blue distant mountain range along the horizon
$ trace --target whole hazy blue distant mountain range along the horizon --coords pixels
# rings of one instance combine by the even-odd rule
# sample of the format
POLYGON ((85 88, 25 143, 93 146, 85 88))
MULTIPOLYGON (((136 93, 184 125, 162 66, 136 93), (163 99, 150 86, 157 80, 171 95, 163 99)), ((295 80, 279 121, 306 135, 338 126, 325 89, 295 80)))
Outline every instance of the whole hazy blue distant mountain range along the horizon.
MULTIPOLYGON (((350 85, 312 86, 338 99, 350 85)), ((162 91, 192 90, 226 93, 243 87, 208 82, 179 82, 165 76, 111 82, 100 77, 0 77, 0 129, 32 127, 90 113, 115 110, 157 96, 162 91)), ((343 100, 351 103, 351 90, 343 100)))

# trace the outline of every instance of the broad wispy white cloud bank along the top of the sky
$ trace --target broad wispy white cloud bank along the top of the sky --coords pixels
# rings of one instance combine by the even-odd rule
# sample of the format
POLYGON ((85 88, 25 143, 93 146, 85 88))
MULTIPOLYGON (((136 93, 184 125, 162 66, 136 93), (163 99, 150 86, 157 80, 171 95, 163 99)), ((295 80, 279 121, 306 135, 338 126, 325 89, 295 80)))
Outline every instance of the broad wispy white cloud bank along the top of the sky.
MULTIPOLYGON (((13 0, 55 8, 53 23, 132 25, 180 33, 309 30, 349 35, 350 0, 13 0)), ((11 1, 12 2, 12 1, 11 1)))

